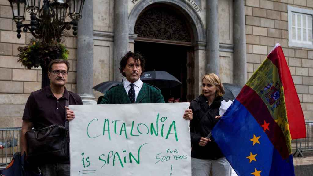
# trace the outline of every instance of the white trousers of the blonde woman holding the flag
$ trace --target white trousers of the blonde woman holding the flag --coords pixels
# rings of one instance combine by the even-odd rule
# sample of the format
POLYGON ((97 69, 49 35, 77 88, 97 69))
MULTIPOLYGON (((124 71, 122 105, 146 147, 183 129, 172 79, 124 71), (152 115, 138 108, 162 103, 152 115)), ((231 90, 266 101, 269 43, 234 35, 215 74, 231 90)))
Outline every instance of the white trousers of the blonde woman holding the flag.
POLYGON ((219 158, 218 160, 191 158, 191 175, 231 176, 232 167, 225 157, 219 158))

